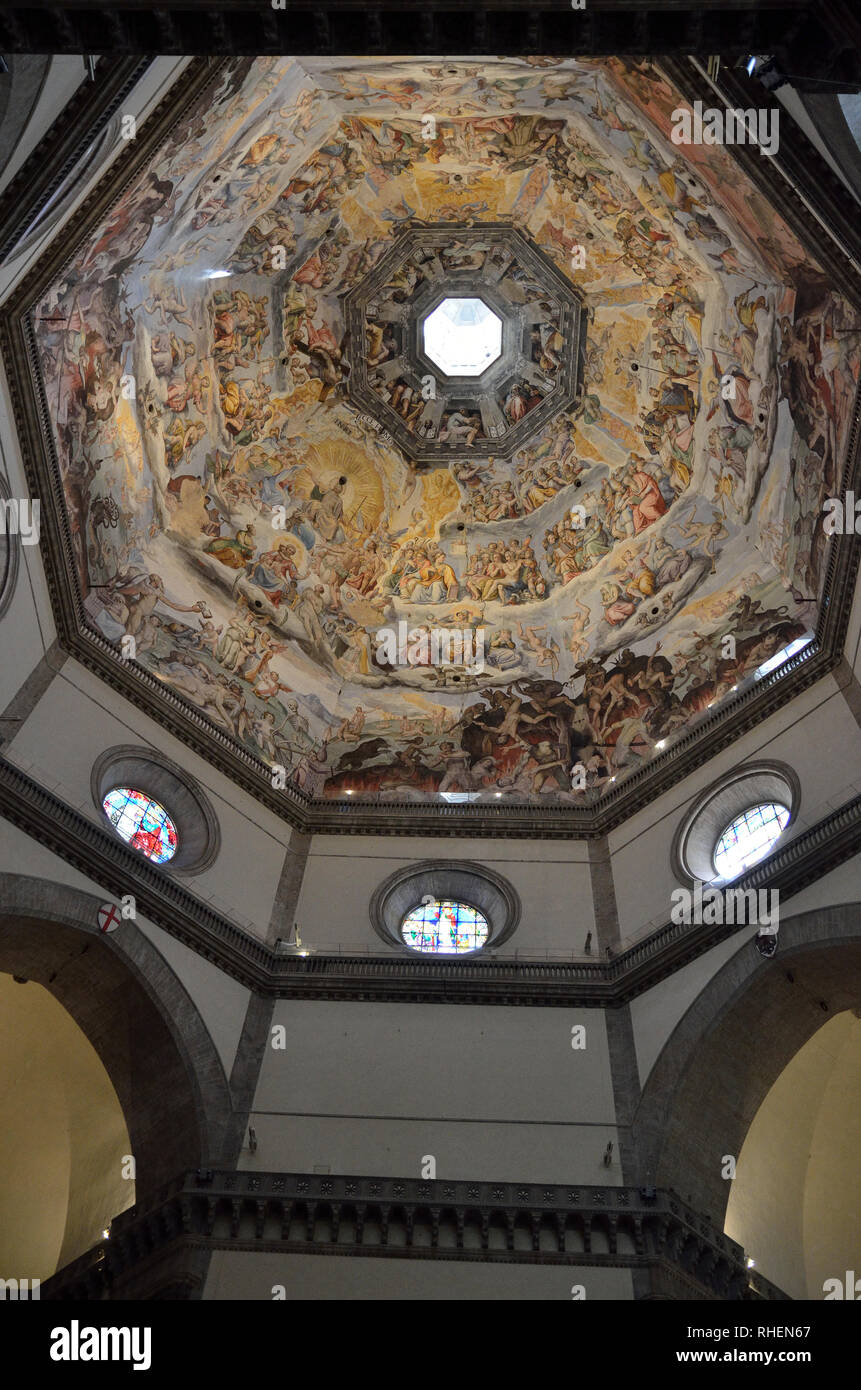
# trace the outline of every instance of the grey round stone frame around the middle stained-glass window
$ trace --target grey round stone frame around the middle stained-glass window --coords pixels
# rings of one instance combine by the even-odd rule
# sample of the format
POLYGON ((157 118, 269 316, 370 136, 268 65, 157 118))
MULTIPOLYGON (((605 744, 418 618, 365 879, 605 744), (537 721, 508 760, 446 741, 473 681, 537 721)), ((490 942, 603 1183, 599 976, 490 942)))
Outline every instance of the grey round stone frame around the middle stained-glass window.
POLYGON ((520 922, 520 898, 510 883, 492 869, 469 859, 435 859, 409 865, 389 874, 376 890, 369 905, 370 923, 377 935, 399 955, 413 960, 476 960, 495 951, 512 935, 520 922), (421 905, 423 898, 437 902, 462 902, 480 912, 488 926, 487 941, 476 951, 416 951, 401 935, 403 919, 421 905))

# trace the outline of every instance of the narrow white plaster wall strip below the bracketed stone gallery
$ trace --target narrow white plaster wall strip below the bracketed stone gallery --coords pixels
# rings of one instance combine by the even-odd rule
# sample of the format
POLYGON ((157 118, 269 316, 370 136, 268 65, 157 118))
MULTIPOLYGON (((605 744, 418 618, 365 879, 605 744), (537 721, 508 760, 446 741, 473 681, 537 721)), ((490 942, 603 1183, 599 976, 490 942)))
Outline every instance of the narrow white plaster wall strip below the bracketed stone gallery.
MULTIPOLYGON (((387 1259, 351 1255, 278 1255, 213 1251, 204 1300, 273 1301, 273 1289, 284 1286, 291 1302, 334 1298, 353 1300, 516 1300, 517 1302, 562 1300, 573 1302, 569 1316, 572 1336, 588 1337, 590 1300, 633 1300, 629 1269, 597 1269, 579 1265, 495 1265, 459 1259, 387 1259), (580 1284, 586 1298, 572 1300, 572 1286, 580 1284), (580 1309, 580 1315, 577 1314, 580 1309), (579 1319, 579 1320, 577 1320, 579 1319)), ((277 1314, 275 1314, 277 1316, 277 1314)), ((289 1322, 284 1325, 285 1334, 289 1322)))

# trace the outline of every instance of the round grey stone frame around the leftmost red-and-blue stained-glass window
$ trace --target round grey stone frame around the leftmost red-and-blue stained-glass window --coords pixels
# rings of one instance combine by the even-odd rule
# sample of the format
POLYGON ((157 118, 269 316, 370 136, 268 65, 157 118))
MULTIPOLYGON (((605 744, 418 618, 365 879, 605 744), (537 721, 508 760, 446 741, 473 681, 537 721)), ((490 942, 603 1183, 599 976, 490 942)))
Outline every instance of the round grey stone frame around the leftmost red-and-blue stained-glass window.
POLYGON ((204 794, 188 773, 150 748, 121 745, 108 748, 96 759, 90 773, 93 805, 118 844, 163 873, 198 874, 209 869, 221 848, 221 830, 204 794), (156 863, 111 826, 103 806, 110 791, 131 787, 142 791, 167 812, 177 831, 177 853, 156 863))

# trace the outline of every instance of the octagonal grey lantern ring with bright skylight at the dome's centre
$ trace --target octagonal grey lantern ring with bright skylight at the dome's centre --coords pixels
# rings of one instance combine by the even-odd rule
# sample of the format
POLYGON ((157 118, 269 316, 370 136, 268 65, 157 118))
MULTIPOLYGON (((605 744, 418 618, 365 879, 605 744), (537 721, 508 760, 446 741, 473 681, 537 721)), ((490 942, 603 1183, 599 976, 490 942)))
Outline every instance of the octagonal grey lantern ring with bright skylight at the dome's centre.
POLYGON ((417 463, 509 455, 579 404, 579 292, 509 224, 405 232, 346 316, 351 399, 417 463))

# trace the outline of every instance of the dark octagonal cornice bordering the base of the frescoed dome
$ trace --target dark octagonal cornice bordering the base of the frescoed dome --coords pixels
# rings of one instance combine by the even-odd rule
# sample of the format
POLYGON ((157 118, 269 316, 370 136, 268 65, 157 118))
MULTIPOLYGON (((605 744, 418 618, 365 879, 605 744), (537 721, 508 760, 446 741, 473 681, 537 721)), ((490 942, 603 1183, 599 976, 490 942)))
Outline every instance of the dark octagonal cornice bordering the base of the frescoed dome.
MULTIPOLYGON (((128 142, 128 152, 117 157, 108 175, 99 182, 64 227, 63 236, 54 240, 0 310, 0 353, 7 364, 28 486, 32 495, 43 502, 42 555, 60 645, 135 708, 168 728, 174 737, 216 766, 225 777, 303 833, 541 840, 590 840, 605 835, 839 664, 860 560, 853 535, 832 538, 816 639, 764 680, 723 703, 695 728, 673 739, 670 748, 650 758, 620 780, 609 794, 602 794, 583 806, 536 806, 509 801, 495 801, 492 805, 476 802, 435 806, 394 801, 363 802, 360 796, 349 801, 312 802, 295 787, 274 790, 270 767, 142 666, 122 660, 117 648, 86 619, 75 577, 77 566, 47 403, 39 385, 32 306, 61 272, 88 231, 104 218, 125 186, 182 120, 191 104, 220 78, 224 63, 225 60, 214 58, 192 60, 184 70, 181 82, 171 86, 140 128, 138 138, 128 142)), ((676 68, 684 74, 689 83, 694 79, 702 81, 690 64, 669 64, 669 71, 673 74, 676 68)), ((711 88, 708 90, 711 92, 711 88)), ((782 149, 784 146, 786 140, 782 149)), ((819 181, 822 170, 825 172, 819 182, 825 182, 828 171, 823 161, 812 152, 808 142, 805 146, 804 157, 810 154, 812 161, 811 181, 819 181)), ((741 154, 741 150, 736 153, 741 154)), ((755 153, 748 153, 747 157, 753 161, 748 168, 751 179, 764 188, 766 196, 778 200, 782 211, 786 211, 786 186, 776 171, 768 168, 771 161, 755 153)), ((814 196, 815 188, 811 183, 811 197, 814 196)), ((794 222, 797 222, 793 224, 794 229, 808 245, 811 254, 822 257, 823 238, 819 224, 804 210, 798 211, 794 222)), ((837 289, 851 297, 861 295, 858 279, 844 254, 835 252, 833 274, 837 289)), ((843 478, 844 488, 861 492, 861 384, 855 395, 843 478)))

